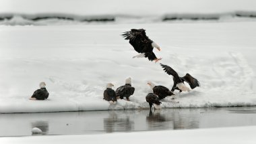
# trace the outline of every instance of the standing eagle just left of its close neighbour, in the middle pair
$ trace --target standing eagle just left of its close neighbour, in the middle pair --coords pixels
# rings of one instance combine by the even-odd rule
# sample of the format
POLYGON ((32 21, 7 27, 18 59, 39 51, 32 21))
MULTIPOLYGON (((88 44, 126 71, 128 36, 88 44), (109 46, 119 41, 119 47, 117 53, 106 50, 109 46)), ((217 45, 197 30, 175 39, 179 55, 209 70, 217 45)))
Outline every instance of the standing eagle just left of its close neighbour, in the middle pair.
POLYGON ((109 101, 110 104, 115 104, 117 102, 117 96, 115 90, 112 89, 114 84, 106 84, 106 90, 103 93, 103 99, 109 101))

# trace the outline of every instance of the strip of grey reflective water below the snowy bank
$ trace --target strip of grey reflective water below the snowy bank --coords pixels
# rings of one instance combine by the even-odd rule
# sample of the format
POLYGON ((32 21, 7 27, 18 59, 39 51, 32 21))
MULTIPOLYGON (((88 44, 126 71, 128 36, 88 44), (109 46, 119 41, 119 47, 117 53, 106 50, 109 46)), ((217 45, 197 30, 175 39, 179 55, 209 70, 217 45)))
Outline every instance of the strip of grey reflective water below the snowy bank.
POLYGON ((0 136, 74 135, 256 125, 256 107, 0 114, 0 136))

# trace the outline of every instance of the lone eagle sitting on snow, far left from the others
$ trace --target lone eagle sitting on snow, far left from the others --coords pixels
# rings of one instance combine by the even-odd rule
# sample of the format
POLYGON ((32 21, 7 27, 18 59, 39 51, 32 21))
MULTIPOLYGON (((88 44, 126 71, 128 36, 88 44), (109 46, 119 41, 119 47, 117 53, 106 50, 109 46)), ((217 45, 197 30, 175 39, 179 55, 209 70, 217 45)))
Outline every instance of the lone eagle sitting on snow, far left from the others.
POLYGON ((48 98, 49 92, 45 88, 46 86, 45 82, 40 82, 39 86, 40 86, 40 89, 34 91, 30 100, 46 100, 46 98, 48 98))

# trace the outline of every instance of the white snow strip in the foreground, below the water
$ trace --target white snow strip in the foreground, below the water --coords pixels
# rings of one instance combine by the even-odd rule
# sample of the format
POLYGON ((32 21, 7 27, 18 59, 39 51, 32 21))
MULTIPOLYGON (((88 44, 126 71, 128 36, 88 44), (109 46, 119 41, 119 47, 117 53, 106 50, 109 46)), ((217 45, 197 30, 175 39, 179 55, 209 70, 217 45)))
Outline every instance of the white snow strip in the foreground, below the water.
POLYGON ((191 144, 254 144, 255 126, 143 133, 110 133, 102 135, 50 135, 34 137, 0 137, 0 143, 191 143, 191 144), (124 141, 124 137, 129 139, 124 141))

